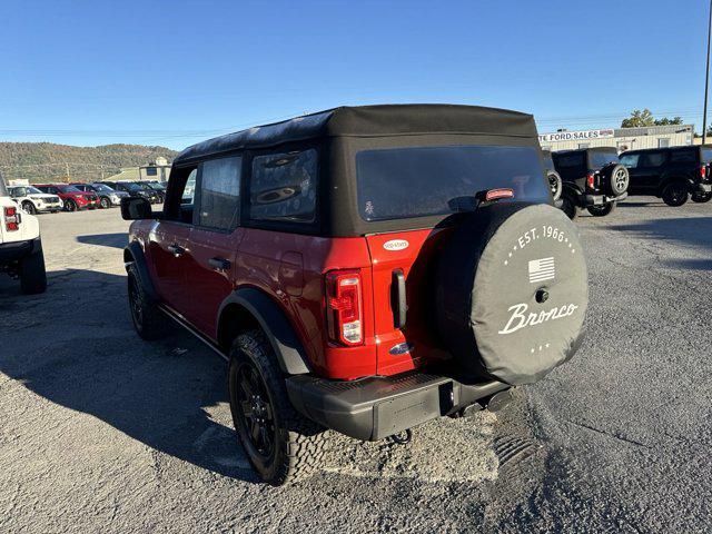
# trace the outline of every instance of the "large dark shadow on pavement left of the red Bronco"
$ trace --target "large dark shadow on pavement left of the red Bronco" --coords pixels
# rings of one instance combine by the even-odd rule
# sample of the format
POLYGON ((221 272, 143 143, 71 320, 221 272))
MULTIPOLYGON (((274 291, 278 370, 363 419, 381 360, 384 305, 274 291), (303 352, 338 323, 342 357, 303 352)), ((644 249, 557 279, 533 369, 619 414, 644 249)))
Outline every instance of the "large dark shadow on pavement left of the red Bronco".
POLYGON ((152 449, 258 482, 233 429, 225 363, 178 328, 166 340, 142 342, 130 323, 125 276, 50 273, 48 291, 38 296, 10 284, 0 281, 1 373, 152 449))

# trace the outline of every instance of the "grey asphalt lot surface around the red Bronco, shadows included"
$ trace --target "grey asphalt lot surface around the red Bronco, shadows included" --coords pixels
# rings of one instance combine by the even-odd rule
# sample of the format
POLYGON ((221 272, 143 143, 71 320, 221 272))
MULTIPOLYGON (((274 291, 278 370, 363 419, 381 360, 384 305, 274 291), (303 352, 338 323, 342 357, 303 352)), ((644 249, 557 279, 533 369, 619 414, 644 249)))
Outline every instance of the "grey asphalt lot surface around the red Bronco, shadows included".
POLYGON ((118 210, 40 216, 48 291, 0 279, 0 532, 709 532, 711 214, 635 198, 580 217, 570 364, 405 446, 335 435, 284 488, 236 443, 222 360, 135 335, 118 210))

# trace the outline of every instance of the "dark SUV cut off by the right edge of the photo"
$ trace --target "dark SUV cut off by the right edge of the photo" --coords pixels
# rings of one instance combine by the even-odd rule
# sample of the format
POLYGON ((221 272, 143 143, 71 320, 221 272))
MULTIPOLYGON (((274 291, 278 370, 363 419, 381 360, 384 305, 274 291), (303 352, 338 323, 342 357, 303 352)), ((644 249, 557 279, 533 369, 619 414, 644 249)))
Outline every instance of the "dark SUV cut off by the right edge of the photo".
POLYGON ((668 206, 682 206, 712 198, 712 147, 671 147, 629 150, 621 164, 631 175, 630 195, 662 198, 668 206))

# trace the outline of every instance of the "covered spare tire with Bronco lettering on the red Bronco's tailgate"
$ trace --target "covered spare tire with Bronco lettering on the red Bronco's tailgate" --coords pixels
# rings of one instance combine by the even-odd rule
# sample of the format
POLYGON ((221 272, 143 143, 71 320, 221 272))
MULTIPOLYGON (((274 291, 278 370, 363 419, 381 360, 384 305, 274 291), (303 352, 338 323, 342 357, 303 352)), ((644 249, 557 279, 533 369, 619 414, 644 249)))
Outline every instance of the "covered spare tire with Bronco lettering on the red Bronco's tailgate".
POLYGON ((438 260, 439 334, 478 378, 540 380, 578 348, 587 304, 576 227, 548 205, 501 202, 466 214, 438 260))

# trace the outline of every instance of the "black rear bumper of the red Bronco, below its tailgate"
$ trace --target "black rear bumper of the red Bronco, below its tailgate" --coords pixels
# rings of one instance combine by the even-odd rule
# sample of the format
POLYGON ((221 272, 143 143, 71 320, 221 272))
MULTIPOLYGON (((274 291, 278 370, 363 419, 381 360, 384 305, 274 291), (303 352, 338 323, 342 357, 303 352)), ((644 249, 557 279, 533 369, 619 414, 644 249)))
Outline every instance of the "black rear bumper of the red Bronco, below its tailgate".
POLYGON ((295 408, 350 437, 377 441, 452 414, 507 389, 501 382, 463 384, 422 372, 338 382, 296 375, 287 378, 295 408))

